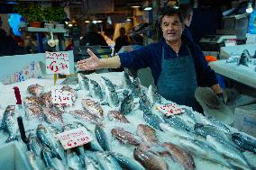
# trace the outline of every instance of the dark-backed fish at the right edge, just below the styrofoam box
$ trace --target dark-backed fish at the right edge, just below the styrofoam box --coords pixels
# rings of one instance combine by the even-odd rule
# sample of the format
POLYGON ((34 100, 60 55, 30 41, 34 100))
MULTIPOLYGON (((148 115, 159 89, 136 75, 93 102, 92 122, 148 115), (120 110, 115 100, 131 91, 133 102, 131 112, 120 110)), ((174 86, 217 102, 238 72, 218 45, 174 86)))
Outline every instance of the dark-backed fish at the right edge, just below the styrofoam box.
POLYGON ((250 137, 244 136, 241 133, 232 134, 233 142, 240 148, 254 152, 256 154, 256 141, 250 137))

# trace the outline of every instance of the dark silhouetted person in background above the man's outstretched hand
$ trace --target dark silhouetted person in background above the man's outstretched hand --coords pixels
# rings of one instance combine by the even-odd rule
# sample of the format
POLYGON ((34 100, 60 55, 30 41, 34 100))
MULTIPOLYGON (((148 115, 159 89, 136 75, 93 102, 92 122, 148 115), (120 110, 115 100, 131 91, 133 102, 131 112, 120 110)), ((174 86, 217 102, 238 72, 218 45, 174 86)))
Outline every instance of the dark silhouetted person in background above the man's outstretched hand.
POLYGON ((86 36, 80 40, 81 46, 95 46, 95 45, 101 45, 101 46, 108 46, 105 42, 104 37, 97 32, 97 26, 95 23, 88 23, 87 24, 87 33, 86 36))

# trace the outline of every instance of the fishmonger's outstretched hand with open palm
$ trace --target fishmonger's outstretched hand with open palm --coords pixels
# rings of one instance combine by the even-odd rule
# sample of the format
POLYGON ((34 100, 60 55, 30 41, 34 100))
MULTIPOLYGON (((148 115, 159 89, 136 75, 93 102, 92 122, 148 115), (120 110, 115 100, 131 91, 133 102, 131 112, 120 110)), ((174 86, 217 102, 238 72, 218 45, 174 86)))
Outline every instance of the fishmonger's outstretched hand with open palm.
POLYGON ((78 61, 78 68, 81 70, 95 70, 102 68, 100 58, 97 58, 90 49, 87 49, 87 53, 90 55, 90 58, 78 61))

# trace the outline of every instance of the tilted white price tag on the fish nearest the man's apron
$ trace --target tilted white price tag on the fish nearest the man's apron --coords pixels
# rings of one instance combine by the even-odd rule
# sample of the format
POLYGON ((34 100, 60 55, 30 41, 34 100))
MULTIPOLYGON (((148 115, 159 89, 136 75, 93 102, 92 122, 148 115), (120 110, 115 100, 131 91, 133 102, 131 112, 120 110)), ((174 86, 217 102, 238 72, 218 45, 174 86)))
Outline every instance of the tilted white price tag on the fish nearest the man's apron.
POLYGON ((164 105, 157 105, 157 109, 165 114, 166 116, 171 116, 175 114, 181 114, 185 112, 183 109, 178 107, 177 103, 169 103, 164 105))

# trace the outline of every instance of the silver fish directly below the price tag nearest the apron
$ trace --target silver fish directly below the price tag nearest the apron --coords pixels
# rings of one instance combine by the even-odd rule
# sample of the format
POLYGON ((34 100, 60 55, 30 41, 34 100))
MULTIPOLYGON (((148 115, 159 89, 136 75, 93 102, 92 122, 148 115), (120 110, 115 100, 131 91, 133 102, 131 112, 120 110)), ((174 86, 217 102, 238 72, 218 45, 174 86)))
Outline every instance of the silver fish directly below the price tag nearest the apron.
POLYGON ((187 121, 182 120, 178 116, 164 116, 164 121, 166 123, 169 123, 170 126, 176 127, 177 129, 183 129, 187 131, 193 131, 194 129, 194 124, 190 124, 187 121))

